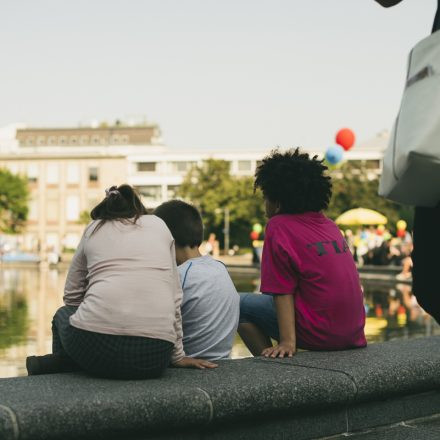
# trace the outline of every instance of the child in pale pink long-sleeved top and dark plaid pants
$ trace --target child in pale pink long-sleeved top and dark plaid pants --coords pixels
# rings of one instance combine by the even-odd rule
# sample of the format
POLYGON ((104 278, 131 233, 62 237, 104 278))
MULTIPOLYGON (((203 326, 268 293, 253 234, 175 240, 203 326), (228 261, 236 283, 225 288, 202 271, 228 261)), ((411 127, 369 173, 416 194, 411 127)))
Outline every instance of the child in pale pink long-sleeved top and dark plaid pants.
POLYGON ((91 212, 52 322, 53 354, 30 356, 29 375, 84 370, 116 379, 159 377, 171 364, 213 368, 185 357, 182 289, 174 240, 146 215, 129 185, 112 186, 91 212))

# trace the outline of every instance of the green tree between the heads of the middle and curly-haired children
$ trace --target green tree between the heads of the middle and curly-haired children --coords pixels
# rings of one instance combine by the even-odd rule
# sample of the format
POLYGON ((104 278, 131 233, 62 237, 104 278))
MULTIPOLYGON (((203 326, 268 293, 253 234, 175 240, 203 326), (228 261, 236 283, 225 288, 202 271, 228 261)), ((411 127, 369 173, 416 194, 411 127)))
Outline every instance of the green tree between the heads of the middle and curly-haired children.
POLYGON ((264 205, 260 192, 253 192, 253 178, 235 177, 229 162, 208 159, 186 175, 178 196, 194 203, 200 210, 206 233, 224 238, 225 208, 230 215, 231 244, 247 246, 252 224, 264 224, 264 205))

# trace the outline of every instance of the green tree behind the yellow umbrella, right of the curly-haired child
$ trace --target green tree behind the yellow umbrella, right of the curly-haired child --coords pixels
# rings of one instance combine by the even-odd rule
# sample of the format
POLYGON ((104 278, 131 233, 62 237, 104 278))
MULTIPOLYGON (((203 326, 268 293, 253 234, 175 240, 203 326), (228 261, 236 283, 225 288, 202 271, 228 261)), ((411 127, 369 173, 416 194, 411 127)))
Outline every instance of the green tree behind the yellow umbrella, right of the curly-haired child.
POLYGON ((345 162, 331 170, 333 196, 326 215, 336 219, 343 212, 354 208, 368 208, 388 218, 387 227, 394 233, 396 222, 407 221, 412 226, 412 209, 384 199, 378 195, 379 178, 361 161, 345 162))

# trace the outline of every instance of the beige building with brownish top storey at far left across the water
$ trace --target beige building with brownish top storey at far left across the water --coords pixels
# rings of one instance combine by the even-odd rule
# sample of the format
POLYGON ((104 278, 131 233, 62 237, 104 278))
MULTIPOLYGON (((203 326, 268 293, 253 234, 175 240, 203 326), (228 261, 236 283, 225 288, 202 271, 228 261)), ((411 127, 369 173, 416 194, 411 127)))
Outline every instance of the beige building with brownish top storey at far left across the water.
POLYGON ((8 237, 9 247, 42 254, 75 249, 84 213, 106 188, 128 181, 127 155, 160 151, 158 140, 156 126, 17 129, 15 143, 0 145, 0 168, 27 179, 29 213, 26 230, 8 237))

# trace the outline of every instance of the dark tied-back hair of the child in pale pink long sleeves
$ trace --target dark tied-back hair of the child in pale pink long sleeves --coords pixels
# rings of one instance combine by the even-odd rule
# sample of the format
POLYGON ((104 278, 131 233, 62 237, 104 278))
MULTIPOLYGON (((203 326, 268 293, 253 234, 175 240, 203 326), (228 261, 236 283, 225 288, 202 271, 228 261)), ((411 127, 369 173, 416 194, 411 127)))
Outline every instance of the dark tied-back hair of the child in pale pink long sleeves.
POLYGON ((147 213, 141 199, 130 185, 111 186, 105 192, 105 199, 90 212, 93 220, 101 220, 93 232, 97 231, 107 220, 134 224, 141 215, 147 213))

